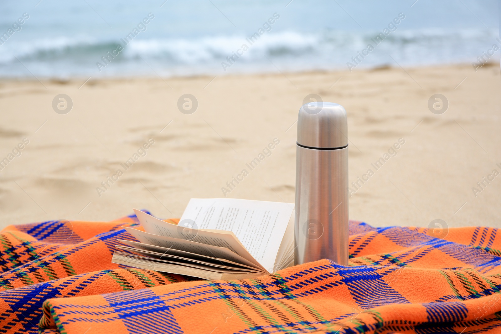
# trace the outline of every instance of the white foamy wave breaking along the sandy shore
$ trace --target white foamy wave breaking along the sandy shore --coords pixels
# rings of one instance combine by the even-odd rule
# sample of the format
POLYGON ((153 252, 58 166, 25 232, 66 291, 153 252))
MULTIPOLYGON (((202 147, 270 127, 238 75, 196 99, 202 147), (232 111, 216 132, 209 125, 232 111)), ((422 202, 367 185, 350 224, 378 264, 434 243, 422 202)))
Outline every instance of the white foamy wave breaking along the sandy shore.
MULTIPOLYGON (((64 77, 145 75, 151 74, 151 68, 161 75, 276 72, 277 68, 284 71, 342 69, 357 52, 374 44, 373 38, 379 33, 266 32, 252 45, 248 36, 243 35, 191 39, 138 37, 128 45, 120 39, 95 40, 85 35, 13 40, 0 46, 0 72, 5 77, 22 77, 28 75, 28 68, 35 76, 64 77), (96 63, 103 62, 102 57, 118 44, 123 51, 109 58, 109 66, 99 71, 96 63), (233 57, 244 44, 248 51, 238 59, 233 58, 234 66, 224 71, 221 63, 228 62, 228 57, 233 57)), ((493 29, 397 30, 375 46, 359 65, 361 68, 392 65, 391 58, 402 66, 469 63, 496 43, 496 37, 497 31, 493 29)))

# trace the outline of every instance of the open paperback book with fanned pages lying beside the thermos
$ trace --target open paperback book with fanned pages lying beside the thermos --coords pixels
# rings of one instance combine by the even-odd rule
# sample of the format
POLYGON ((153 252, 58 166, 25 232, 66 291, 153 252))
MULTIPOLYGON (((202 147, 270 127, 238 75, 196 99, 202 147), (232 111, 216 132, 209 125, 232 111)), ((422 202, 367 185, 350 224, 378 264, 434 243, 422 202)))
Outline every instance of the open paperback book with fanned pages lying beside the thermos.
POLYGON ((113 254, 113 263, 204 279, 243 279, 294 264, 294 204, 192 198, 178 225, 135 210, 139 242, 113 254))

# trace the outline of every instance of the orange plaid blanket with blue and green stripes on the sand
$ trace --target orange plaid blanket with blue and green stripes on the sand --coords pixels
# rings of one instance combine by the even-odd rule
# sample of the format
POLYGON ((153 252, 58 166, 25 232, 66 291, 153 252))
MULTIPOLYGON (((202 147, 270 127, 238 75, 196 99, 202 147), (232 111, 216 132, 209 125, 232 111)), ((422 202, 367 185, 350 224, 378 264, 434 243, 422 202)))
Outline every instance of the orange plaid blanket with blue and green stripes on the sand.
POLYGON ((131 215, 5 228, 0 332, 501 332, 495 228, 452 228, 439 239, 350 221, 349 266, 324 259, 205 281, 111 263, 117 239, 133 240, 121 226, 137 224, 131 215))

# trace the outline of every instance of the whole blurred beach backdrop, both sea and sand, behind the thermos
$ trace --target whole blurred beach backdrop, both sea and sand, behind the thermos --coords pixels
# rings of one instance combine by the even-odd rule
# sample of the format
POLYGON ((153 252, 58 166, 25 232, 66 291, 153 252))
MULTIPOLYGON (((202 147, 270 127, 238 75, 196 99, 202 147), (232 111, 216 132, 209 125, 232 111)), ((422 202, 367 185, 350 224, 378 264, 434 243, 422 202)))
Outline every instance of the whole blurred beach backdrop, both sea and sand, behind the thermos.
POLYGON ((351 219, 501 226, 497 1, 1 6, 2 226, 133 207, 179 217, 192 197, 294 202, 310 97, 347 110, 351 219), (196 110, 181 112, 184 94, 196 110), (433 112, 435 94, 446 106, 433 112))

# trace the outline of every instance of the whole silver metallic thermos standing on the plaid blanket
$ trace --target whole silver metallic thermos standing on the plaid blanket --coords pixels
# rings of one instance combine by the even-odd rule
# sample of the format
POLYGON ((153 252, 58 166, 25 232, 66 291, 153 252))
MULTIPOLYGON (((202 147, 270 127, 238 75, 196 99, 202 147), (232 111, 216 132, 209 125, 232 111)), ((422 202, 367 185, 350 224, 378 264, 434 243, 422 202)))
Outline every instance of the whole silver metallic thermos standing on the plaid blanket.
POLYGON ((295 262, 348 264, 348 122, 336 103, 299 109, 295 262))

